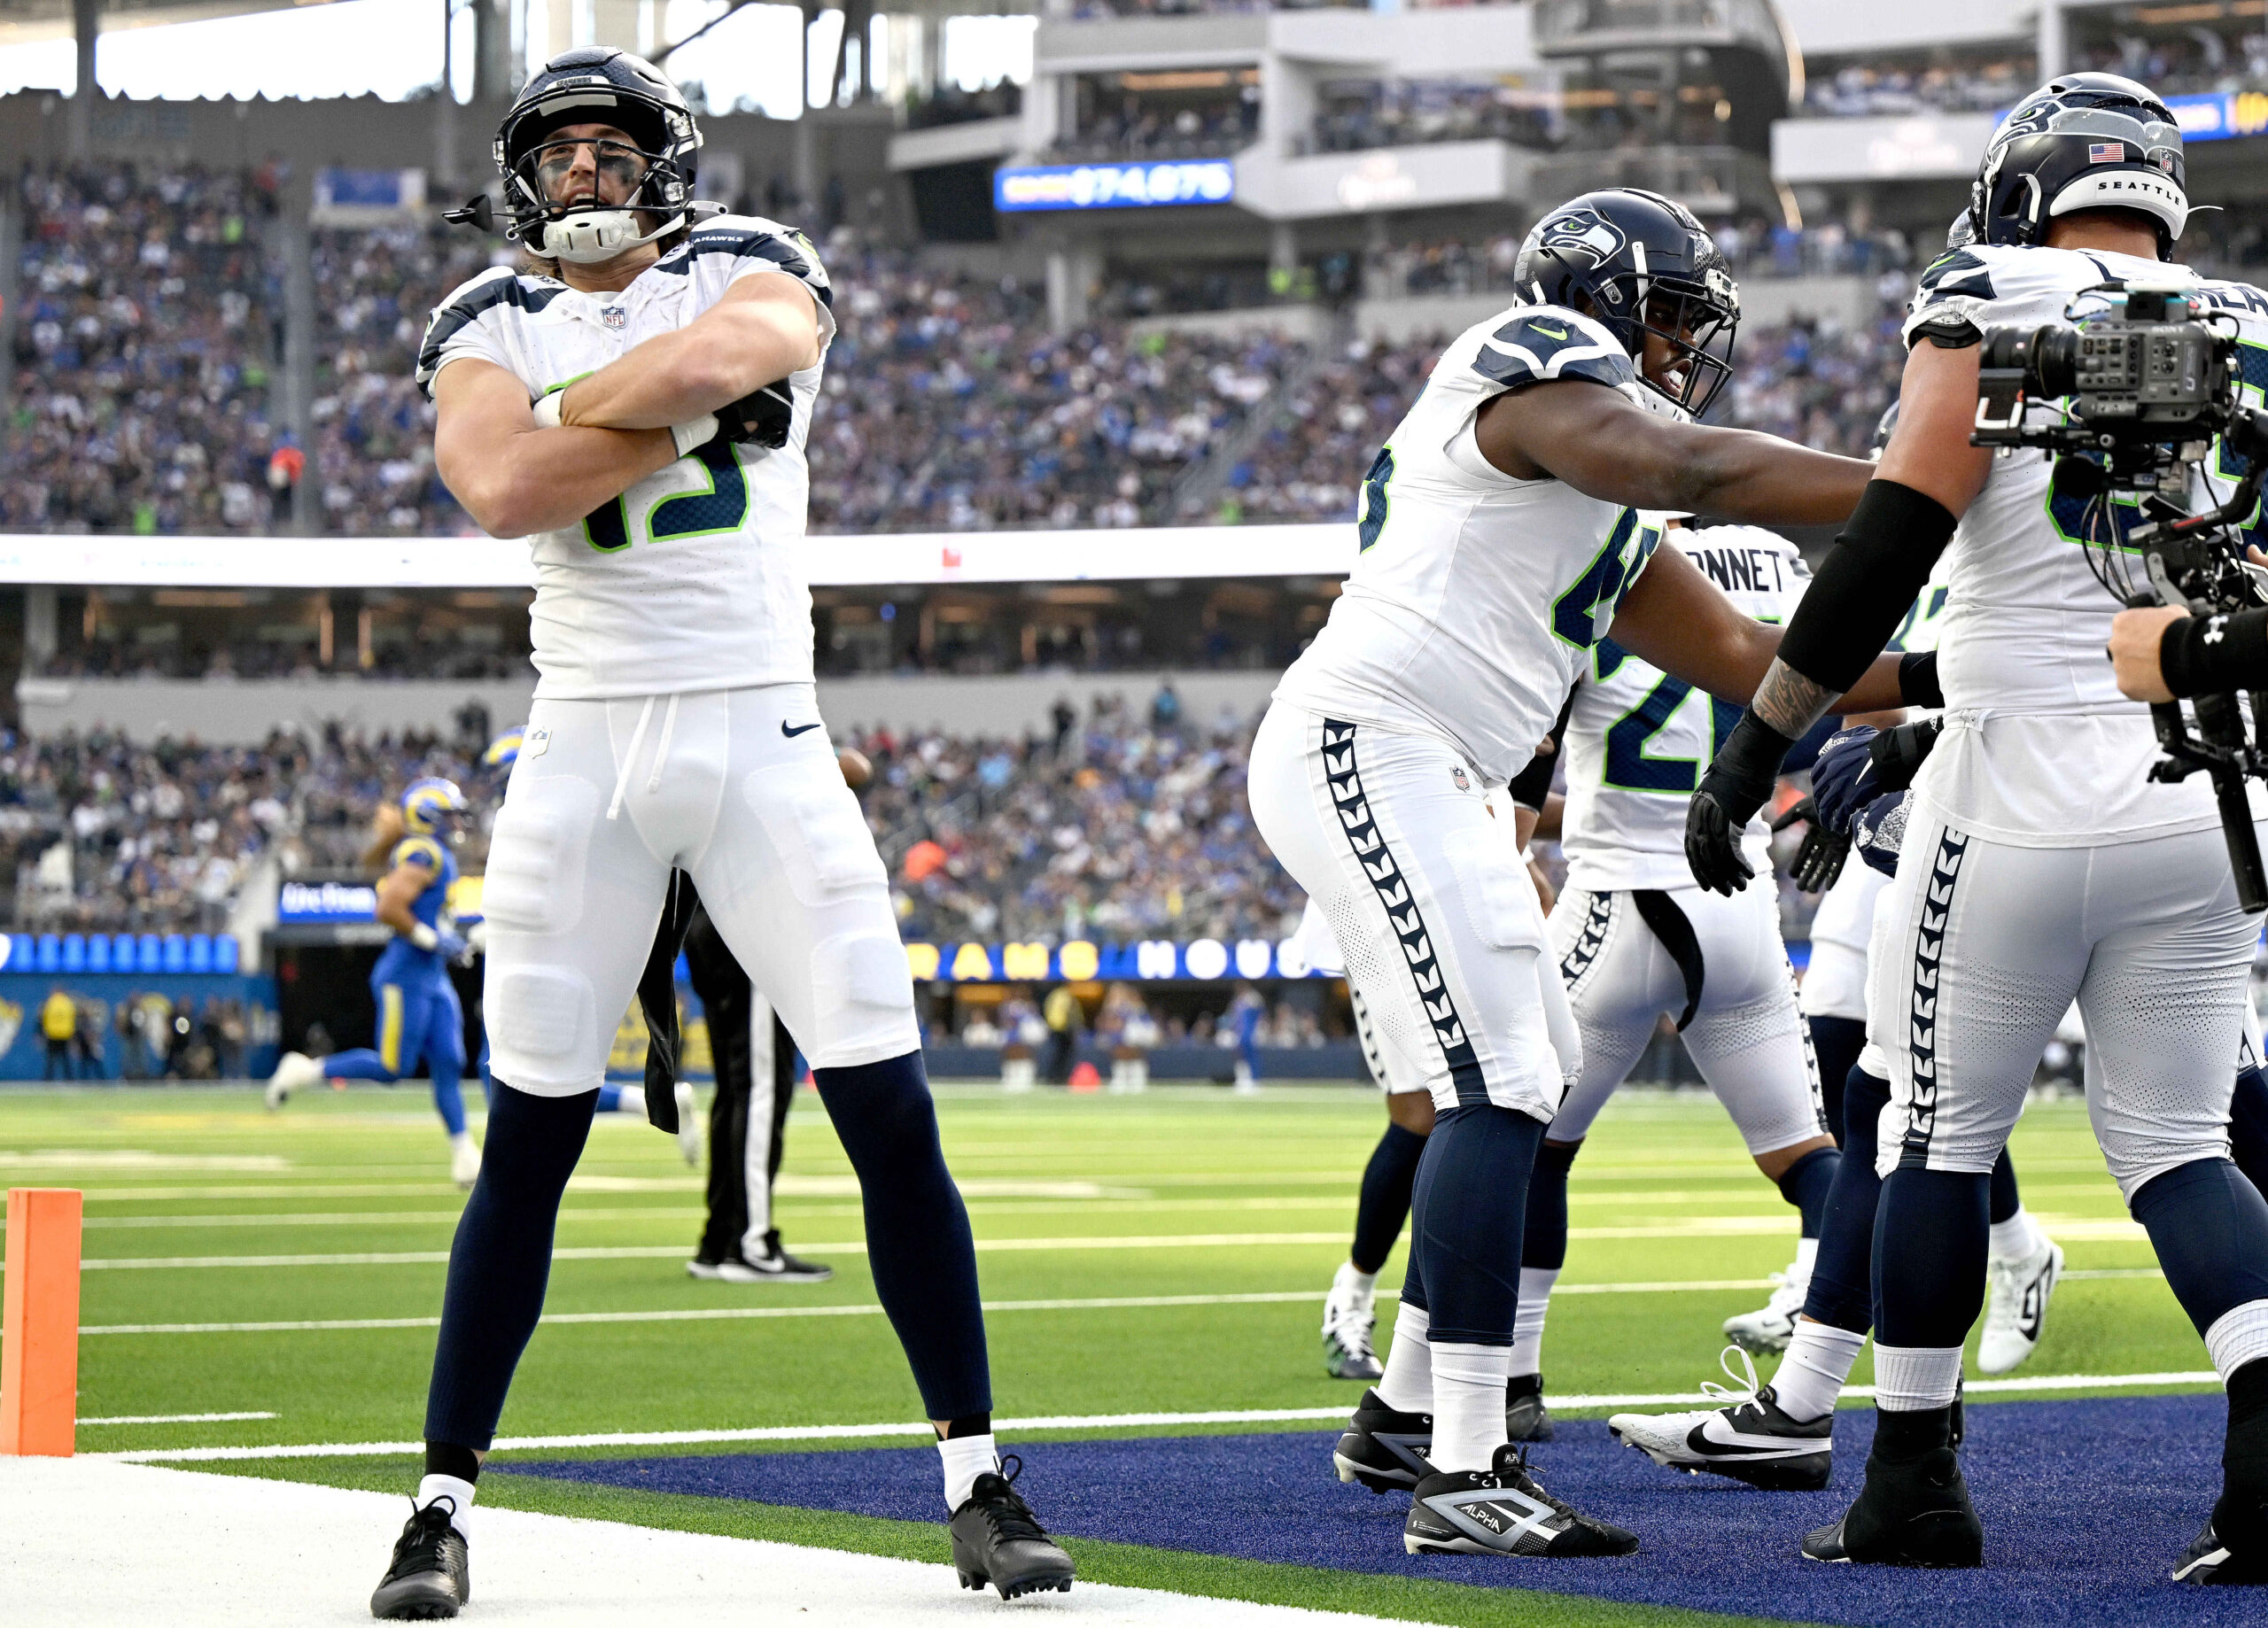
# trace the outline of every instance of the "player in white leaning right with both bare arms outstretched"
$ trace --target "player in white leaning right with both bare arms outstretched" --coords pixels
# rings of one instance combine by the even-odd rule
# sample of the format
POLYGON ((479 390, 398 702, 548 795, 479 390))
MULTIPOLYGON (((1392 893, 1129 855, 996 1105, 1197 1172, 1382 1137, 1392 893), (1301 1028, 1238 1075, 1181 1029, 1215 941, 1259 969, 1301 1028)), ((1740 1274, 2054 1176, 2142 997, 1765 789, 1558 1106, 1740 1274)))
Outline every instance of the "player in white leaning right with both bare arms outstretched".
MULTIPOLYGON (((1365 1485, 1415 1483, 1413 1553, 1631 1553, 1631 1533, 1545 1494, 1506 1442, 1529 1170, 1581 1043, 1483 794, 1535 755, 1608 626, 1726 698, 1769 667, 1778 630, 1658 549, 1642 508, 1821 524, 1869 465, 1690 422, 1728 372, 1737 292, 1683 206, 1588 193, 1529 234, 1515 279, 1520 304, 1449 345, 1372 463, 1361 558, 1277 687, 1250 796, 1329 918, 1388 1068, 1427 1079, 1436 1106, 1393 1351, 1340 1458, 1365 1485), (1377 1431, 1429 1433, 1433 1474, 1388 1456, 1372 1476, 1377 1431)), ((1898 705, 1896 667, 1853 680, 1853 710, 1898 705)))

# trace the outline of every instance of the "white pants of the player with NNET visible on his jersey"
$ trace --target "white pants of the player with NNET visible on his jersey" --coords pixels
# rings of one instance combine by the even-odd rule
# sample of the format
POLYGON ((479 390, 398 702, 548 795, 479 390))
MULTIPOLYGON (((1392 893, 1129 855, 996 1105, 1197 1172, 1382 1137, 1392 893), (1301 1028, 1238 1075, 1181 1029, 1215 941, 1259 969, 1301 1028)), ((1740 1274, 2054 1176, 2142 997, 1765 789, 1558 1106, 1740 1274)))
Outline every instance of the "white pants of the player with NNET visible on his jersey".
MULTIPOLYGON (((1701 946, 1701 1004, 1685 1050, 1751 1154, 1826 1136, 1810 1032, 1796 1016, 1794 975, 1780 943, 1780 907, 1767 887, 1724 898, 1669 891, 1701 946)), ((1576 1143, 1653 1038, 1685 1011, 1685 975, 1628 893, 1560 893, 1551 911, 1560 977, 1583 1036, 1583 1077, 1560 1102, 1549 1136, 1576 1143)))

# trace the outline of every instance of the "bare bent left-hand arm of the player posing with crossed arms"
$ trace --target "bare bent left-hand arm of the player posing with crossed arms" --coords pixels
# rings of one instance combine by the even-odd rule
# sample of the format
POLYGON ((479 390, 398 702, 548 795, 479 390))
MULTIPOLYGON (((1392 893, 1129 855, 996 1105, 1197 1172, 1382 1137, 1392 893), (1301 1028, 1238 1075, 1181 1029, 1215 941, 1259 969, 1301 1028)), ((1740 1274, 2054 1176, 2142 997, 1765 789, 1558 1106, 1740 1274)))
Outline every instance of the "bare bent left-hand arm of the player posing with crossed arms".
POLYGON ((492 537, 572 526, 678 460, 669 431, 535 429, 513 374, 465 358, 433 379, 440 478, 492 537))

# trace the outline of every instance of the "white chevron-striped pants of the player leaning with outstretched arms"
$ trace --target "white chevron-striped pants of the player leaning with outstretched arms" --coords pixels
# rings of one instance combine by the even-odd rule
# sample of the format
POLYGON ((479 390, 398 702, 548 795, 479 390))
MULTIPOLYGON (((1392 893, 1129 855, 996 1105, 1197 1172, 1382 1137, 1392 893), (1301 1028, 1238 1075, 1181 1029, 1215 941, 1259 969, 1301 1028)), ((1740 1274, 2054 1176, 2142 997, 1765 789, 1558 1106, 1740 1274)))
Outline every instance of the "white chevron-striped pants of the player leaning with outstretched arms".
MULTIPOLYGON (((1447 741, 1277 701, 1252 741, 1252 819, 1347 957, 1393 1082, 1433 1106, 1551 1120, 1560 1057, 1542 902, 1447 741)), ((1572 1061, 1572 1059, 1569 1059, 1572 1061)))

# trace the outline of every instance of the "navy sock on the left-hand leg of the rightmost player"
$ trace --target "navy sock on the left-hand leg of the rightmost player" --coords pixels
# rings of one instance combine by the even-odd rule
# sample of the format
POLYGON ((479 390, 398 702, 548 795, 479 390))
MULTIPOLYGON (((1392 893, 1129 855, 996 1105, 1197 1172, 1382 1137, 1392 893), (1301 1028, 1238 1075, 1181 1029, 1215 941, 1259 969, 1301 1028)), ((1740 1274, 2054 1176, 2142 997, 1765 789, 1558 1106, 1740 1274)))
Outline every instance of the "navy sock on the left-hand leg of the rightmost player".
POLYGON ((1984 1311, 1991 1175, 1898 1168, 1873 1211, 1876 1345, 1941 1351, 1984 1311))

